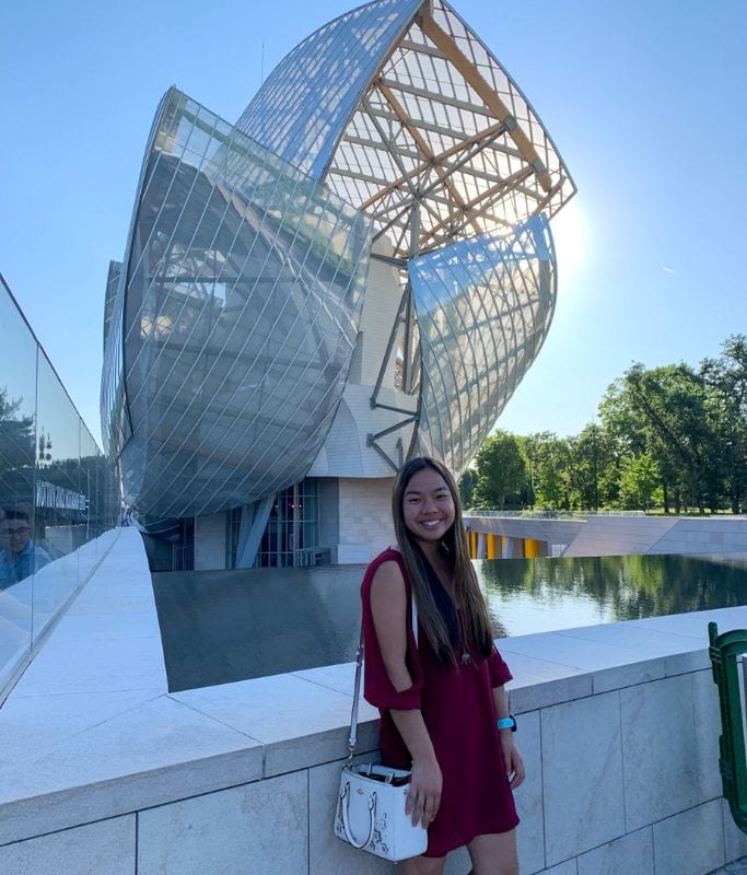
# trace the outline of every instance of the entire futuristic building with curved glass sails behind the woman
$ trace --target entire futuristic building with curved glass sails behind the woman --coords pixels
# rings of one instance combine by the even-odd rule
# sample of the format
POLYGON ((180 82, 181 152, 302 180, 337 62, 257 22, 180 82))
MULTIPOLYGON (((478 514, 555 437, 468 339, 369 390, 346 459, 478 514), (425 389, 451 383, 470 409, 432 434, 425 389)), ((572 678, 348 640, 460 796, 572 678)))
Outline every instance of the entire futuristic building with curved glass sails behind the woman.
POLYGON ((537 355, 574 191, 442 0, 326 24, 235 125, 171 89, 106 288, 125 500, 185 565, 367 560, 402 460, 460 475, 537 355))

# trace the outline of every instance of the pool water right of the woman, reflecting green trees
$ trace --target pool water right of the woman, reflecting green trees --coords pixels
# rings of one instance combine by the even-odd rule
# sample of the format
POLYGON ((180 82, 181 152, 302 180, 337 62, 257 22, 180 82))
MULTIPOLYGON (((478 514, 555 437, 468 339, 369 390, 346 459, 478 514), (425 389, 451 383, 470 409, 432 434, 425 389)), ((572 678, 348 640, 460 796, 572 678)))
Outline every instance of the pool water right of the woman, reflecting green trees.
POLYGON ((476 567, 501 635, 747 604, 747 558, 604 556, 476 567))

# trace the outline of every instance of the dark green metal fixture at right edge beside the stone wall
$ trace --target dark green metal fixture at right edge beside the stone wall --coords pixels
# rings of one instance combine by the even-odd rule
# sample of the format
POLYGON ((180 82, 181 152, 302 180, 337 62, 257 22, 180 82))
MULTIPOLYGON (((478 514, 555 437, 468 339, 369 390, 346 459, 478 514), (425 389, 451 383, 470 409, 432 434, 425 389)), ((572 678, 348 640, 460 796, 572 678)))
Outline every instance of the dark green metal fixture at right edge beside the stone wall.
POLYGON ((747 759, 738 662, 738 657, 747 653, 747 629, 734 629, 720 635, 716 625, 710 622, 708 635, 713 680, 719 687, 721 704, 721 783, 734 822, 747 832, 747 759))

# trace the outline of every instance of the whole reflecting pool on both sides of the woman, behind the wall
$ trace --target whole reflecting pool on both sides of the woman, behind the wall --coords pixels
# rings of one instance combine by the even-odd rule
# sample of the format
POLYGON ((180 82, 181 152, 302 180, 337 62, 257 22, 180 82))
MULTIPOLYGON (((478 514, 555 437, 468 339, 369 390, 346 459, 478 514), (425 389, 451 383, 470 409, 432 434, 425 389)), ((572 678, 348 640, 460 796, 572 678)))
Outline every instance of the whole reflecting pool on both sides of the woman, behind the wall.
MULTIPOLYGON (((747 557, 486 559, 475 565, 501 637, 747 604, 747 557)), ((364 568, 153 574, 170 690, 354 660, 364 568)))

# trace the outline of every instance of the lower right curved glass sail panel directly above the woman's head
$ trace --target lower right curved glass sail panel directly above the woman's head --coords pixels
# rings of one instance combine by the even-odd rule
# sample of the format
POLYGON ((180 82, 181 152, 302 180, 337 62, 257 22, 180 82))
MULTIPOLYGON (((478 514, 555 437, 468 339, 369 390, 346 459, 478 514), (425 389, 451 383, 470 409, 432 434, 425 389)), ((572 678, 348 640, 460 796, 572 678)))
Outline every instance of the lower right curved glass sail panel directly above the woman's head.
POLYGON ((422 357, 419 451, 459 476, 534 361, 550 326, 549 224, 481 236, 409 264, 422 357))

